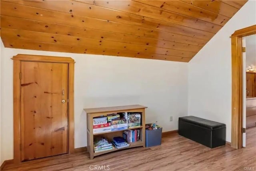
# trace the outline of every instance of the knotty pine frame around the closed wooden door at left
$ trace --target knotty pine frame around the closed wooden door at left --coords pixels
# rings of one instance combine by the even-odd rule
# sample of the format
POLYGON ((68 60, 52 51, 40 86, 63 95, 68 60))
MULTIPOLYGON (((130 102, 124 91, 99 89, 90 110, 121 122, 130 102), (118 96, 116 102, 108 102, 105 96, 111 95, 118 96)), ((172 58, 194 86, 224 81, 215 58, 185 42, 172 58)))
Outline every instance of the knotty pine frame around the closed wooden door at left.
POLYGON ((74 59, 70 57, 53 57, 24 54, 18 54, 11 59, 13 60, 14 163, 18 164, 21 162, 20 69, 22 61, 68 64, 68 153, 74 153, 74 59))

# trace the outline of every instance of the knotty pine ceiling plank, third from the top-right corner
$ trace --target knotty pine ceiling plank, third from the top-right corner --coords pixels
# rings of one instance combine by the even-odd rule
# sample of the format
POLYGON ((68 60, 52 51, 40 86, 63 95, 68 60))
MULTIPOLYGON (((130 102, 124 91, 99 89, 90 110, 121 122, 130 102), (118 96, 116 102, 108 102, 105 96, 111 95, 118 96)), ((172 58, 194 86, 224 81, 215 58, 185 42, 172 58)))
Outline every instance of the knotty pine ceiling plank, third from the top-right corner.
POLYGON ((188 3, 184 3, 178 0, 165 1, 165 0, 134 0, 143 4, 155 6, 170 12, 182 14, 184 16, 190 16, 197 18, 205 22, 224 26, 230 18, 210 12, 208 10, 200 9, 188 3))

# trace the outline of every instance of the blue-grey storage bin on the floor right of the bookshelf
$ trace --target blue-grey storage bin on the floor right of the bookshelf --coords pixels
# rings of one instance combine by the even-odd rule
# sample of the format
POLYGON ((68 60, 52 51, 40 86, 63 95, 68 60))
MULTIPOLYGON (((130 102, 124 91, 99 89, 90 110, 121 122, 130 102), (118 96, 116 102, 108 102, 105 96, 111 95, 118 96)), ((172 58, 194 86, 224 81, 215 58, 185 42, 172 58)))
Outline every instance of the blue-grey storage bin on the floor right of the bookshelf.
POLYGON ((146 130, 146 147, 161 145, 162 128, 156 130, 146 130))

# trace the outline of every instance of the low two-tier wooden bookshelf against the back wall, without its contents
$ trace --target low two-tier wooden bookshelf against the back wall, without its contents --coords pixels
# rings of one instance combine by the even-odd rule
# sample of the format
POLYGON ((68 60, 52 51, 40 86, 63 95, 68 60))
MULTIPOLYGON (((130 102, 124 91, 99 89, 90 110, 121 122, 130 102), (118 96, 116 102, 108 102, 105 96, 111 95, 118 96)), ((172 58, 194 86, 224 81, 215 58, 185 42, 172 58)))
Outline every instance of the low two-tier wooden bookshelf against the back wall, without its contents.
POLYGON ((122 149, 128 149, 133 147, 146 147, 145 142, 145 108, 146 106, 141 105, 129 105, 129 106, 115 106, 115 107, 106 107, 106 108, 87 108, 84 109, 87 114, 87 151, 90 153, 90 159, 93 159, 95 156, 110 153, 113 151, 118 151, 122 149), (93 133, 93 118, 99 116, 107 116, 108 114, 112 113, 119 113, 119 112, 140 112, 141 113, 141 125, 124 129, 124 130, 133 130, 133 129, 140 129, 140 140, 136 142, 129 142, 129 147, 124 147, 121 149, 110 149, 107 151, 102 152, 94 152, 94 138, 95 136, 104 136, 108 140, 112 140, 113 137, 121 136, 124 130, 118 131, 109 131, 109 132, 102 132, 102 133, 93 133))

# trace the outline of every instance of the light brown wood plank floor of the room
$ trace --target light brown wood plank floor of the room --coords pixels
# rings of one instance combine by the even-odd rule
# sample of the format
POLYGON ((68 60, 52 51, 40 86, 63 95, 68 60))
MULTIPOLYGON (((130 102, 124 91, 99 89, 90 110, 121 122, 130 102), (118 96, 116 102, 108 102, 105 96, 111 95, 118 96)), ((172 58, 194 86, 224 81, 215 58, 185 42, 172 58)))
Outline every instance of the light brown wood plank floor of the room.
MULTIPOLYGON (((90 171, 90 165, 105 165, 112 171, 243 171, 256 170, 256 127, 247 130, 247 147, 233 149, 229 145, 210 149, 178 134, 162 139, 162 145, 137 147, 89 159, 88 153, 60 155, 19 166, 6 165, 8 171, 90 171)), ((91 166, 91 168, 93 168, 91 166)))

